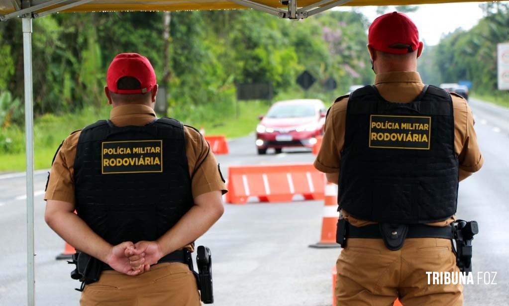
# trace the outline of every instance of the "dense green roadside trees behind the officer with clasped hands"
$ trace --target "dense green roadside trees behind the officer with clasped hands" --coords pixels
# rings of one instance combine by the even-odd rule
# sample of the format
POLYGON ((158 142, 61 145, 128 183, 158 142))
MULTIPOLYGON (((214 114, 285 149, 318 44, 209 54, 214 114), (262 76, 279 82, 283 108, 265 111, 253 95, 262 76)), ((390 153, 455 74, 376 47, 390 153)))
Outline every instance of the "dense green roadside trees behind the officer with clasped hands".
MULTIPOLYGON (((371 80, 366 24, 362 15, 350 12, 290 21, 249 10, 58 14, 36 19, 35 114, 63 114, 104 104, 107 65, 115 54, 128 51, 151 60, 159 84, 169 88, 172 115, 191 116, 191 121, 212 119, 212 109, 230 115, 237 82, 269 81, 276 94, 294 92, 296 76, 308 69, 318 79, 312 93, 323 93, 321 81, 330 76, 344 91, 351 82, 371 80), (171 19, 167 39, 166 16, 171 19)), ((21 38, 19 22, 0 24, 0 66, 5 67, 0 71, 0 90, 9 92, 14 101, 23 94, 21 38)), ((11 117, 17 123, 19 116, 11 117)), ((4 127, 9 123, 0 122, 4 127)))

